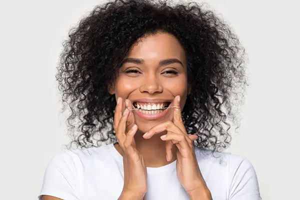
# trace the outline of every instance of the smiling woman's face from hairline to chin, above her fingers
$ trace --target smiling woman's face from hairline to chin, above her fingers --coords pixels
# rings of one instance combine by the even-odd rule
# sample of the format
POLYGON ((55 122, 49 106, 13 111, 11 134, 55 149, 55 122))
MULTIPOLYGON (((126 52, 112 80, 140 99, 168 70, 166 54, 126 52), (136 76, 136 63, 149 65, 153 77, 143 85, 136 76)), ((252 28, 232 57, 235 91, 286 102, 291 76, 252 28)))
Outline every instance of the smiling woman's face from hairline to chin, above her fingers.
POLYGON ((174 97, 180 95, 182 110, 187 94, 186 59, 178 40, 161 32, 141 38, 125 57, 112 90, 116 99, 129 99, 139 108, 132 112, 140 131, 172 120, 174 97))

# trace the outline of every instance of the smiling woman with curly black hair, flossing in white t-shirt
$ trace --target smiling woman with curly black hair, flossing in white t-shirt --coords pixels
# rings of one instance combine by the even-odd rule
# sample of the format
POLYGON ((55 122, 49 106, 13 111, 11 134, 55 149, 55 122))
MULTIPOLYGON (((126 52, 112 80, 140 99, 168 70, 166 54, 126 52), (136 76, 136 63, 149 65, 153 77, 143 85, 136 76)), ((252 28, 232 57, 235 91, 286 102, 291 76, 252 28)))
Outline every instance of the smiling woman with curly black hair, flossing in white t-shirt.
POLYGON ((56 76, 81 148, 51 159, 40 199, 260 199, 251 163, 221 152, 243 55, 195 3, 95 7, 71 30, 56 76))

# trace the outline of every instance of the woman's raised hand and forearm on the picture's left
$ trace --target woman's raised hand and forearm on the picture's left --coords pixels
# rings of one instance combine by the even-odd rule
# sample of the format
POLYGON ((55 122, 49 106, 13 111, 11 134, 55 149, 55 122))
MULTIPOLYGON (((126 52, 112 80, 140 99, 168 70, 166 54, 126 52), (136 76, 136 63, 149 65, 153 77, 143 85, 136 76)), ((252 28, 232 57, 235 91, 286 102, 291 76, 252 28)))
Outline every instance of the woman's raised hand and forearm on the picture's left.
MULTIPOLYGON (((128 99, 126 101, 128 106, 131 105, 128 99)), ((134 135, 137 126, 133 119, 128 124, 130 111, 124 107, 123 99, 119 97, 113 122, 115 136, 123 151, 124 185, 119 199, 142 199, 147 190, 146 165, 142 155, 135 147, 134 135), (129 130, 126 131, 127 129, 129 130)), ((133 113, 130 114, 130 117, 133 118, 133 113)))

